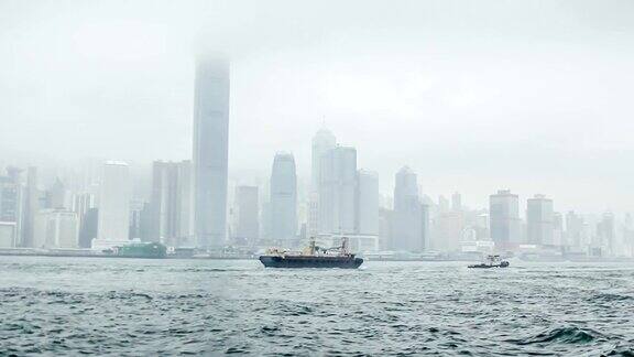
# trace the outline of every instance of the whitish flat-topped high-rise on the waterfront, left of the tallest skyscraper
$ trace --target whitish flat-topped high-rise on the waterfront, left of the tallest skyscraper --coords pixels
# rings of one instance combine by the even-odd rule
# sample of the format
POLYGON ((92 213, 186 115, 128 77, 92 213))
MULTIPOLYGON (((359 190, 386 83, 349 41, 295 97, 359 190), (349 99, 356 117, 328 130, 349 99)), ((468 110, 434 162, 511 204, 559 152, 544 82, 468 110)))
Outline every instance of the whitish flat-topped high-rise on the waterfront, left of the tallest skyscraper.
POLYGON ((103 165, 99 197, 97 239, 99 246, 129 241, 130 176, 128 164, 108 161, 103 165))

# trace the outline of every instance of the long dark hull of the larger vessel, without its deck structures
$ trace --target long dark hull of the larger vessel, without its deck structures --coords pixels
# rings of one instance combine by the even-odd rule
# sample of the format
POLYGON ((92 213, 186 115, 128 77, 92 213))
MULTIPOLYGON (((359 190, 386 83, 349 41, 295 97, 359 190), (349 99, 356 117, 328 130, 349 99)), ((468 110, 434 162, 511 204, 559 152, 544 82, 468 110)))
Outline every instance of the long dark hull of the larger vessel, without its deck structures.
POLYGON ((315 256, 261 256, 260 261, 266 268, 340 268, 357 269, 363 259, 351 257, 315 256))

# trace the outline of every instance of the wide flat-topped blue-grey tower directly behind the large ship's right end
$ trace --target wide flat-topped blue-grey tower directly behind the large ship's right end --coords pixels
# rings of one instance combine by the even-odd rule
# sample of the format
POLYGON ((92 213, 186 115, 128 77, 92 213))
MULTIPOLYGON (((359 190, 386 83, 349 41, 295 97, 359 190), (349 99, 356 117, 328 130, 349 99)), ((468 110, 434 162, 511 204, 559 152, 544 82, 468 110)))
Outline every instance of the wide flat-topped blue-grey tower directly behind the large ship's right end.
POLYGON ((321 155, 319 232, 354 234, 357 149, 337 147, 321 155))

